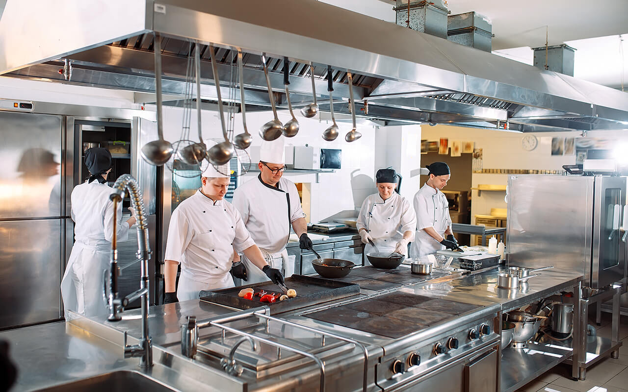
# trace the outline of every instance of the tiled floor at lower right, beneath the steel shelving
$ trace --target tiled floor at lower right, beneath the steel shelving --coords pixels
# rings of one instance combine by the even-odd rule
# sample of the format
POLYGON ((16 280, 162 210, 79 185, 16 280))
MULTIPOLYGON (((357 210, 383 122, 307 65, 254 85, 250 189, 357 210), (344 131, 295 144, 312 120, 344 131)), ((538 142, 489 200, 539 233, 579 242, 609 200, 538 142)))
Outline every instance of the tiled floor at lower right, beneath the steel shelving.
MULTIPOLYGON (((589 324, 595 326, 592 317, 589 324)), ((517 392, 628 392, 628 317, 622 316, 619 325, 624 343, 619 358, 605 358, 588 368, 585 381, 573 381, 571 367, 560 364, 517 392)), ((598 335, 610 337, 610 315, 602 313, 602 325, 596 328, 598 335)))

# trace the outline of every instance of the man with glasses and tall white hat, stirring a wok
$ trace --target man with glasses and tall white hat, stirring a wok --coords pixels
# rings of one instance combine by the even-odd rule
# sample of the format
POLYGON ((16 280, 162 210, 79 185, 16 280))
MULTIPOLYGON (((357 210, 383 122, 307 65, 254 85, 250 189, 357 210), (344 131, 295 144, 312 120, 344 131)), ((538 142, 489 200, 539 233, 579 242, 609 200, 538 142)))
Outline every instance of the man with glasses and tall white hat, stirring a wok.
MULTIPOLYGON (((290 226, 299 237, 301 249, 311 248, 312 241, 307 235, 305 214, 295 183, 282 177, 286 170, 285 163, 284 137, 271 142, 264 140, 257 164, 259 176, 236 189, 233 204, 240 211, 244 225, 259 245, 266 262, 272 268, 283 269, 286 275, 291 275, 293 268, 287 264, 286 252, 290 226)), ((235 259, 237 257, 234 256, 235 259)), ((246 253, 242 262, 246 271, 234 276, 249 283, 268 280, 268 271, 266 274, 259 273, 246 253)))

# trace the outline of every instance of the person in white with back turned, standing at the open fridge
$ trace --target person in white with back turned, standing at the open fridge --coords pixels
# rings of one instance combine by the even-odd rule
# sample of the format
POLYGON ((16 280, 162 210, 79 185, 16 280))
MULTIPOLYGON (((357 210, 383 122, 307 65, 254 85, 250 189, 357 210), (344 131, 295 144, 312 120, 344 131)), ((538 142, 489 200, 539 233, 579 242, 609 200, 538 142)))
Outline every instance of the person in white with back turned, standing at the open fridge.
MULTIPOLYGON (((72 191, 72 220, 75 242, 61 281, 65 310, 88 317, 109 314, 102 300, 102 272, 109 268, 113 237, 114 206, 109 199, 113 189, 107 185, 111 153, 104 148, 85 151, 85 166, 90 177, 72 191)), ((135 211, 122 224, 122 204, 117 207, 117 241, 126 241, 135 224, 135 211)))

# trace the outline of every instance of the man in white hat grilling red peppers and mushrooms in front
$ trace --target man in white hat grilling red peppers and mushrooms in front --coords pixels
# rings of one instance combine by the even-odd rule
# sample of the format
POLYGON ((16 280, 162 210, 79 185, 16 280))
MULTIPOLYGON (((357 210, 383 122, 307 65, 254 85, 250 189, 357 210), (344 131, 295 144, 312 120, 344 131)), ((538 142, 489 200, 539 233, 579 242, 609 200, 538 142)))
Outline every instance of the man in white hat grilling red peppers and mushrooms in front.
MULTIPOLYGON (((215 142, 205 140, 205 144, 210 147, 215 142)), ((201 290, 233 287, 229 272, 237 275, 244 268, 241 263, 232 263, 234 249, 246 255, 251 269, 261 273, 264 268, 273 282, 283 282, 281 273, 268 266, 240 213, 224 200, 229 174, 228 164, 218 167, 209 164, 202 173, 202 186, 172 213, 165 255, 166 304, 198 299, 201 290), (181 275, 175 291, 179 263, 181 275)))

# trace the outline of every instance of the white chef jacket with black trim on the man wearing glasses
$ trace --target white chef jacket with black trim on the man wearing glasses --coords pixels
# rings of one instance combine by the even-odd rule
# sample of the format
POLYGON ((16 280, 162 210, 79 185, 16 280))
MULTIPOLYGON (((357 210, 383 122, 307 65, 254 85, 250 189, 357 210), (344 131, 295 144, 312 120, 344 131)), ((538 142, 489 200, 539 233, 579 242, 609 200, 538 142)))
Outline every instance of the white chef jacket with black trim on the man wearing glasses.
MULTIPOLYGON (((290 225, 305 218, 295 183, 281 177, 277 186, 271 186, 264 183, 259 175, 236 189, 233 204, 242 214, 244 225, 268 264, 281 270, 288 260, 285 249, 290 225)), ((247 267, 247 283, 269 280, 246 257, 242 257, 242 262, 247 267)))

